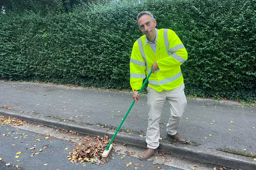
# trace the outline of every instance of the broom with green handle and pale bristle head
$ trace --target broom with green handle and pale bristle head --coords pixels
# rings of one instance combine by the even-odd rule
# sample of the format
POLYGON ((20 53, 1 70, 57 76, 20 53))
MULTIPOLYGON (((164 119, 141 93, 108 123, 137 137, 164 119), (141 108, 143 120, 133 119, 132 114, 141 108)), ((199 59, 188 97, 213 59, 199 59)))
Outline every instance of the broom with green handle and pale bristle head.
MULTIPOLYGON (((148 76, 147 76, 146 80, 144 81, 144 83, 142 84, 142 87, 141 87, 141 89, 139 90, 138 94, 140 94, 140 92, 142 91, 142 89, 143 89, 143 87, 145 86, 145 84, 146 84, 148 78, 150 78, 150 75, 152 74, 152 71, 153 71, 153 69, 150 71, 150 74, 148 74, 148 76)), ((103 162, 108 163, 108 162, 110 161, 110 159, 111 159, 111 156, 114 154, 115 151, 114 151, 112 142, 113 142, 114 138, 116 137, 117 132, 118 132, 119 129, 121 128, 121 126, 122 126, 122 124, 123 124, 125 118, 127 117, 127 115, 129 114, 130 110, 132 109, 134 103, 135 103, 135 100, 133 101, 132 105, 130 106, 130 108, 128 109, 127 113, 126 113, 125 116, 123 117, 121 124, 120 124, 119 127, 117 128, 117 130, 116 130, 114 136, 112 137, 112 139, 111 139, 111 141, 109 142, 108 146, 106 147, 105 151, 102 153, 101 157, 102 157, 102 161, 103 161, 103 162)))

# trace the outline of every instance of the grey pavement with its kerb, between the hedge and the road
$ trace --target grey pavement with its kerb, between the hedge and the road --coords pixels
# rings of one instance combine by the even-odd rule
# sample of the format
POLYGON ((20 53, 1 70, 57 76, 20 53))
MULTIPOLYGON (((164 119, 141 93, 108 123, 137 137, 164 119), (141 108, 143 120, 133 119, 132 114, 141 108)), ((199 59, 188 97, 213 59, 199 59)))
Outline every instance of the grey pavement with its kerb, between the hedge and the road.
MULTIPOLYGON (((113 136, 130 105, 131 92, 31 82, 0 81, 0 115, 92 136, 113 136), (7 109, 9 108, 9 109, 7 109)), ((256 169, 256 107, 235 102, 187 99, 178 132, 188 140, 166 139, 169 107, 160 120, 160 152, 237 169, 256 169), (223 152, 240 152, 240 155, 223 152)), ((135 103, 114 141, 146 148, 146 94, 135 103)))

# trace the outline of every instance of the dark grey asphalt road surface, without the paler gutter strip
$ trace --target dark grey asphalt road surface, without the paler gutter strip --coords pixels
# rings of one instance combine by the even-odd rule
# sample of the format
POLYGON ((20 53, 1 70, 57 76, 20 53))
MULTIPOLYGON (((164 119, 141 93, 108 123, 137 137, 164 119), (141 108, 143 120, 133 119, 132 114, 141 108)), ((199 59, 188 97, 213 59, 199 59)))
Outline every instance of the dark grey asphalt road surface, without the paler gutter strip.
MULTIPOLYGON (((126 154, 113 156, 114 159, 104 165, 96 165, 90 162, 71 163, 67 156, 69 152, 73 151, 74 142, 67 140, 49 137, 45 139, 46 135, 19 129, 19 127, 11 127, 9 125, 2 125, 0 128, 0 169, 25 169, 25 170, 68 170, 68 169, 172 169, 178 170, 181 168, 162 165, 150 161, 141 161, 138 158, 127 156, 126 154), (3 134, 6 134, 3 136, 3 134), (51 140, 50 140, 51 139, 51 140), (44 147, 47 146, 46 149, 44 147), (30 150, 36 148, 35 150, 30 150), (42 150, 41 152, 39 150, 42 150), (16 155, 17 152, 21 152, 16 155), (40 153, 32 155, 32 153, 40 153), (18 156, 18 157, 17 157, 18 156), (15 158, 17 157, 17 158, 15 158), (121 159, 123 157, 124 159, 121 159), (126 166, 126 163, 132 162, 133 164, 126 166), (10 163, 10 165, 6 165, 10 163), (140 165, 135 165, 139 163, 140 165), (17 167, 13 167, 16 166, 17 167), (159 168, 158 168, 159 167, 159 168)), ((61 132, 59 136, 62 136, 61 132)))

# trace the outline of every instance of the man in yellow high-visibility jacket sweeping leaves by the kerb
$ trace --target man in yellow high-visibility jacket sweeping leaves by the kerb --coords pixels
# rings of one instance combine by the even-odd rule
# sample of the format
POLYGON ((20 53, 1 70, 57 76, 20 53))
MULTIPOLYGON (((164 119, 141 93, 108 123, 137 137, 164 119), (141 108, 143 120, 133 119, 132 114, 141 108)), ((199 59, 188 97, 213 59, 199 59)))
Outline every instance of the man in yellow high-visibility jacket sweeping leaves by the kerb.
POLYGON ((134 43, 130 60, 130 83, 135 102, 140 98, 138 91, 143 79, 153 69, 147 87, 147 150, 140 154, 140 159, 146 160, 158 152, 159 121, 165 100, 170 104, 167 137, 186 142, 177 130, 187 105, 180 68, 187 60, 187 51, 174 31, 155 28, 157 22, 151 12, 139 13, 137 23, 144 35, 134 43))

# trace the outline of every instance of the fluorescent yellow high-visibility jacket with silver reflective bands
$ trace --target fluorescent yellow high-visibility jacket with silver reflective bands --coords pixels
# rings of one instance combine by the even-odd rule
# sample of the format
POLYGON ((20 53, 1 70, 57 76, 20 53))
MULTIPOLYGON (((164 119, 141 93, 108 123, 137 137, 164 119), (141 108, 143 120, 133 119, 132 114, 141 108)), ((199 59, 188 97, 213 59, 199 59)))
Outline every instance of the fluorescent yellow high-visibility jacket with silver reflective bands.
POLYGON ((180 86, 183 83, 180 65, 187 60, 187 51, 176 33, 169 29, 158 30, 156 54, 148 43, 145 44, 145 40, 146 36, 143 35, 133 45, 130 60, 132 89, 142 87, 142 81, 155 61, 159 69, 151 74, 148 86, 159 92, 180 86))

